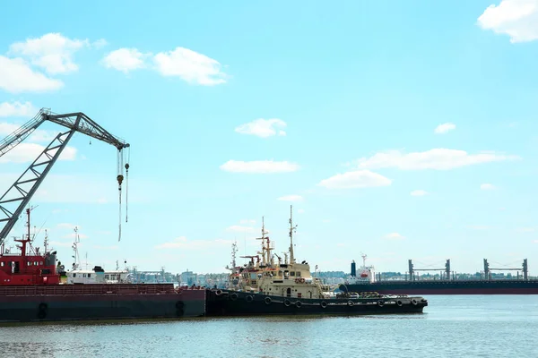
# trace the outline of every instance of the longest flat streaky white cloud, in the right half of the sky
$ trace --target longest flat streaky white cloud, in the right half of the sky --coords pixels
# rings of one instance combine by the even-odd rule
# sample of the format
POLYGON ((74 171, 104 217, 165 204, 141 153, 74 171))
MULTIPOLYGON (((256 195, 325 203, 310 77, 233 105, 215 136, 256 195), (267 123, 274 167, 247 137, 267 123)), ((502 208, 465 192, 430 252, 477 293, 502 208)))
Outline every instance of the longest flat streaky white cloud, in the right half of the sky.
POLYGON ((370 158, 360 158, 357 162, 362 169, 395 167, 401 170, 447 170, 460 166, 516 159, 520 158, 494 152, 469 154, 464 150, 440 148, 407 154, 399 150, 387 150, 378 152, 370 158))

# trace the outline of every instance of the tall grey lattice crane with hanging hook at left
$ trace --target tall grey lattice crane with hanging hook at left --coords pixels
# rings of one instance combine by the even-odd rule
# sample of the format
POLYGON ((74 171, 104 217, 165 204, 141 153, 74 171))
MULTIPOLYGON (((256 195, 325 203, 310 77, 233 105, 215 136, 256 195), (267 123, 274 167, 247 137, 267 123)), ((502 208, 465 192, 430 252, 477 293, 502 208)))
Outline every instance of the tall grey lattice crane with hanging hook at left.
MULTIPOLYGON (((32 195, 38 190, 39 185, 43 183, 48 171, 56 163, 57 158, 62 154, 67 143, 73 137, 74 132, 82 132, 117 148, 117 183, 121 216, 121 185, 124 179, 124 167, 126 168, 127 178, 129 173, 129 164, 126 163, 125 166, 123 165, 123 150, 129 148, 130 145, 126 141, 107 132, 99 124, 93 122, 90 117, 81 112, 56 115, 47 108, 41 108, 39 113, 29 122, 23 124, 15 132, 4 138, 3 141, 0 141, 0 158, 24 141, 45 121, 63 125, 68 131, 58 133, 50 144, 43 149, 38 158, 30 164, 7 192, 0 197, 0 228, 2 228, 2 231, 0 231, 0 244, 4 243, 5 238, 21 216, 22 210, 29 203, 32 195)), ((119 228, 119 237, 121 238, 121 219, 119 228)))

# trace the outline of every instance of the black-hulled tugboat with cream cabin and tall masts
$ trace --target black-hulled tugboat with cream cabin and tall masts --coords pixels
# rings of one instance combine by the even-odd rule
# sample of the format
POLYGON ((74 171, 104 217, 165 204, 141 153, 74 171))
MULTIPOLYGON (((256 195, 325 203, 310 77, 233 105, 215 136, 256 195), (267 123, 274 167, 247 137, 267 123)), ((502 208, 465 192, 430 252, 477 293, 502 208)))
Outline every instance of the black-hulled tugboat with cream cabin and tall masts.
POLYGON ((298 263, 295 260, 293 233, 296 229, 297 226, 293 226, 291 207, 290 249, 282 262, 281 257, 271 253, 274 245, 265 236, 267 232, 262 219, 262 237, 258 238, 262 241, 262 251, 254 256, 243 256, 250 261, 240 267, 235 262, 234 246, 228 285, 224 289, 207 289, 206 315, 421 313, 428 305, 428 301, 421 296, 410 297, 404 294, 334 294, 319 278, 311 276, 307 261, 298 263), (261 260, 259 255, 262 256, 261 260), (274 256, 278 262, 275 262, 274 256))

